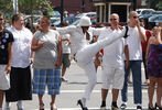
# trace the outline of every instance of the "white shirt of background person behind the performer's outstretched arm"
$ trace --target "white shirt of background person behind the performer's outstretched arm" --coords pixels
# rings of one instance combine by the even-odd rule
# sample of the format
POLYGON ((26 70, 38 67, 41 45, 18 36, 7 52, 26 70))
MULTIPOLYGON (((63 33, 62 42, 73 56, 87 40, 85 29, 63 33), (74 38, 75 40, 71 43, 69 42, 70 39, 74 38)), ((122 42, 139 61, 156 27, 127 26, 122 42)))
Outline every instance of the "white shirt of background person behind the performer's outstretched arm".
MULTIPOLYGON (((69 40, 69 34, 64 34, 64 35, 61 35, 61 36, 62 36, 62 38, 68 38, 69 40)), ((63 54, 71 54, 69 45, 71 44, 67 41, 62 42, 63 54)))

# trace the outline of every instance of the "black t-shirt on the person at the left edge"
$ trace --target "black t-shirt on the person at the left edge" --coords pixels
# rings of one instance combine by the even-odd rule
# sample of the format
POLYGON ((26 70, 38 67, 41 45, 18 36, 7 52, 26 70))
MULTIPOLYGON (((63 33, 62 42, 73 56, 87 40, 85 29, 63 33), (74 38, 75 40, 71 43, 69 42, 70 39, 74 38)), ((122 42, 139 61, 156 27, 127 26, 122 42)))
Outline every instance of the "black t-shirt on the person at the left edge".
POLYGON ((9 62, 9 43, 13 42, 13 35, 7 29, 0 32, 0 65, 9 62))

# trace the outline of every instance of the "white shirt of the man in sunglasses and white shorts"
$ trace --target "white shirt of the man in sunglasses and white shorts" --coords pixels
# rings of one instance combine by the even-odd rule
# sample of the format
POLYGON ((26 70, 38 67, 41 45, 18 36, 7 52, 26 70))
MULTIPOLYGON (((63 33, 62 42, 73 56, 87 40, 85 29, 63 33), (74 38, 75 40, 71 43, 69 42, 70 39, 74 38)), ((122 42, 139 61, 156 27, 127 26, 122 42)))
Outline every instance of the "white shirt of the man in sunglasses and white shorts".
MULTIPOLYGON (((98 40, 102 40, 105 37, 111 37, 111 34, 116 32, 117 30, 112 31, 110 28, 106 28, 100 33, 98 40)), ((118 32, 121 31, 118 30, 118 32)), ((112 44, 106 46, 104 48, 102 66, 123 68, 125 45, 127 45, 127 40, 121 37, 115 41, 112 44)))

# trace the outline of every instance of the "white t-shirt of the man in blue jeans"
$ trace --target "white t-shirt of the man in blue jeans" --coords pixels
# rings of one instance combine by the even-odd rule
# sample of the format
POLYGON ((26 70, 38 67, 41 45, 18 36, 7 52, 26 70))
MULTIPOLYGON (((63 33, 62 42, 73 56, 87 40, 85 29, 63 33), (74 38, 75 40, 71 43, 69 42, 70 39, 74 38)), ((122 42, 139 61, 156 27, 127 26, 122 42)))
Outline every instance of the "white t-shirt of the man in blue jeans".
MULTIPOLYGON (((143 28, 141 28, 141 30, 143 33, 145 33, 143 28)), ((142 61, 141 40, 138 28, 129 26, 128 35, 129 61, 142 61)))

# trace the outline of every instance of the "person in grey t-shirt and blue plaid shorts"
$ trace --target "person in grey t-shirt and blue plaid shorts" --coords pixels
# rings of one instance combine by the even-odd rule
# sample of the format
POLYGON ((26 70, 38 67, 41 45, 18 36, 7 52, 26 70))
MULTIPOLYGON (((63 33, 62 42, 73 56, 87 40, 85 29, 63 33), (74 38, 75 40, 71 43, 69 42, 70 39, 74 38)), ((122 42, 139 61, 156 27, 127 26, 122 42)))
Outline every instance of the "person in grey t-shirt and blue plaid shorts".
POLYGON ((34 52, 33 94, 37 95, 40 110, 44 110, 43 96, 46 85, 51 96, 51 110, 57 110, 55 99, 61 87, 61 36, 57 31, 50 29, 50 16, 41 18, 41 29, 35 32, 31 47, 34 52))

